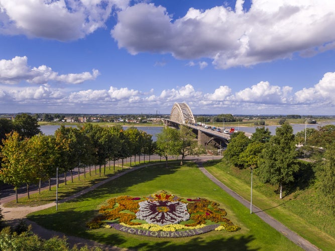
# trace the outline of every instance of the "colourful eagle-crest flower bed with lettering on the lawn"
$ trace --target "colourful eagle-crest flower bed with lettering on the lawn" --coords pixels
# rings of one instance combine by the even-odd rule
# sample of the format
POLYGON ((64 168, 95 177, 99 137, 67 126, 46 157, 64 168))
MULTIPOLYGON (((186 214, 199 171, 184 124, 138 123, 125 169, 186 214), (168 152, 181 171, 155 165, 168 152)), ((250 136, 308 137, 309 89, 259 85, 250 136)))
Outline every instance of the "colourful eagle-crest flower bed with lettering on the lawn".
POLYGON ((218 203, 204 198, 184 200, 162 191, 145 199, 119 196, 107 203, 87 227, 113 227, 132 234, 170 238, 240 229, 225 218, 227 212, 218 203))

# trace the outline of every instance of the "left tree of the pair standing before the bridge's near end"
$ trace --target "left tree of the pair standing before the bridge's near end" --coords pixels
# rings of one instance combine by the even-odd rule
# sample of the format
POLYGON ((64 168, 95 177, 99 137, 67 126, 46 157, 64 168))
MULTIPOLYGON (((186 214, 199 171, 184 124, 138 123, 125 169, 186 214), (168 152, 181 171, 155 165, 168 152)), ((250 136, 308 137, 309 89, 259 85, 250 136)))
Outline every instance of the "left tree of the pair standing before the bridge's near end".
POLYGON ((168 166, 168 157, 177 155, 180 149, 179 133, 173 128, 163 128, 162 132, 157 134, 157 153, 165 158, 166 167, 168 166))

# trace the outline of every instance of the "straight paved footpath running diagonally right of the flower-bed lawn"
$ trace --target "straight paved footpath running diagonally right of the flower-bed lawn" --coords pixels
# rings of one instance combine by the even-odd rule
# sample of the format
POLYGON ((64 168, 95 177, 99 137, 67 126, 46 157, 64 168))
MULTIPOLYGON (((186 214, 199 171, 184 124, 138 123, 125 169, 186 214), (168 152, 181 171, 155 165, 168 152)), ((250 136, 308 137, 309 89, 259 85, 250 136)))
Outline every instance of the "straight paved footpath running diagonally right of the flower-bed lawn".
MULTIPOLYGON (((227 193, 229 193, 232 197, 237 199, 239 202, 241 202, 246 207, 250 208, 250 201, 246 200, 245 198, 241 197, 239 194, 231 190, 229 187, 221 183, 218 179, 216 179, 213 175, 208 173, 208 171, 202 167, 202 163, 197 163, 199 166, 200 171, 206 175, 212 182, 214 182, 216 185, 218 185, 220 188, 225 190, 227 193)), ((276 229, 278 232, 281 232, 284 234, 288 239, 292 240, 295 244, 303 248, 304 250, 313 251, 313 250, 320 250, 316 246, 314 246, 312 243, 310 243, 308 240, 302 238, 297 233, 293 232, 292 230, 288 229, 286 226, 284 226, 279 221, 275 220, 271 216, 269 216, 267 213, 265 213, 262 209, 256 206, 252 206, 252 211, 257 214, 262 220, 264 220, 266 223, 268 223, 270 226, 272 226, 274 229, 276 229)))

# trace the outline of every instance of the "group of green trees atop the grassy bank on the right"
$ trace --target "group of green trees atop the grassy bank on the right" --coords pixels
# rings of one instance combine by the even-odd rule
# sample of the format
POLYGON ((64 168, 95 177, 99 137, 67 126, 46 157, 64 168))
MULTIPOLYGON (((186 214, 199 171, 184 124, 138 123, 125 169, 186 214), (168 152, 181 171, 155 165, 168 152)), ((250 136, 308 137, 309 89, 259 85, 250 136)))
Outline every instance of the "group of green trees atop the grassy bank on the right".
POLYGON ((306 129, 294 135, 292 127, 284 122, 274 136, 265 128, 257 128, 250 139, 235 133, 224 154, 233 165, 254 169, 262 182, 278 185, 280 198, 284 186, 295 182, 299 172, 303 175, 299 155, 308 155, 314 163, 311 183, 335 213, 335 126, 306 129), (299 144, 303 144, 300 150, 299 144))

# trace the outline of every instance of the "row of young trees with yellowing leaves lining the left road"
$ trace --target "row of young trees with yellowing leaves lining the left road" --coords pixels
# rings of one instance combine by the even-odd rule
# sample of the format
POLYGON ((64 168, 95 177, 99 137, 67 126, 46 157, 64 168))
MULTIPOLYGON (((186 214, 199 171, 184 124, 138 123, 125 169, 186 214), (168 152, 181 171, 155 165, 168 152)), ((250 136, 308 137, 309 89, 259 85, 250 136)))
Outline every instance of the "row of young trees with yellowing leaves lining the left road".
MULTIPOLYGON (((78 128, 61 126, 54 135, 37 134, 30 138, 22 137, 17 131, 7 134, 0 146, 2 158, 0 179, 17 189, 23 184, 29 186, 41 184, 59 172, 71 173, 74 168, 91 166, 101 167, 105 174, 107 161, 122 160, 135 156, 152 155, 155 143, 146 132, 131 127, 123 130, 122 126, 101 127, 98 124, 84 124, 78 128)), ((139 160, 140 161, 140 160, 139 160)), ((130 161, 132 164, 132 159, 130 161)), ((18 201, 18 194, 16 192, 18 201)))

